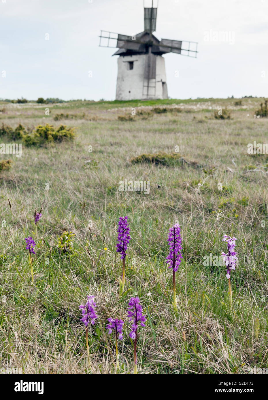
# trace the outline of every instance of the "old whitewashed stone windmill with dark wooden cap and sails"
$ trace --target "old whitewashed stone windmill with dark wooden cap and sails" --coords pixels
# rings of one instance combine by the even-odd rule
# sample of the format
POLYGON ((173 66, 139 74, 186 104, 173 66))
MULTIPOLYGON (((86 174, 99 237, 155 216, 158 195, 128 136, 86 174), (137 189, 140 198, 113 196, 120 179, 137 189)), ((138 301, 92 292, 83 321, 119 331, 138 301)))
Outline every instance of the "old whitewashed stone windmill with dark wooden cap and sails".
POLYGON ((157 39, 156 30, 158 0, 151 7, 144 7, 144 31, 127 36, 101 30, 100 47, 119 48, 113 56, 117 60, 116 100, 167 98, 165 59, 163 54, 175 53, 197 56, 197 43, 183 40, 157 39), (155 4, 157 3, 157 4, 155 4))

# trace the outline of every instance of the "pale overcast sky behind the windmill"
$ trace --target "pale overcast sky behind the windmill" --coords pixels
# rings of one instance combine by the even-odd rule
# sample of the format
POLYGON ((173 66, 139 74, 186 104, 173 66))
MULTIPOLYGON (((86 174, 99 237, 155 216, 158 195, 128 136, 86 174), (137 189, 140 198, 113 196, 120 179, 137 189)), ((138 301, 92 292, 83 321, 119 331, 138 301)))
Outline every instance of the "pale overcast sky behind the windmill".
MULTIPOLYGON (((114 100, 100 30, 143 24, 143 0, 0 0, 0 98, 114 100)), ((268 0, 159 0, 155 36, 199 43, 164 56, 171 98, 268 96, 268 0)))

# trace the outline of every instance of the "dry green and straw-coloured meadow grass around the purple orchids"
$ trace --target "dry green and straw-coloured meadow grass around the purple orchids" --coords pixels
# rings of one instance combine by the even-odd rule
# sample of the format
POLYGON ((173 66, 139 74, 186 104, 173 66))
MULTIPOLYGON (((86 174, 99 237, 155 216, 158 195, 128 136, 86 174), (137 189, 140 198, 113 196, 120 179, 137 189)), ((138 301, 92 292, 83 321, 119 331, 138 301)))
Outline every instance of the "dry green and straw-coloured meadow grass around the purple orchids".
MULTIPOLYGON (((253 118, 258 99, 242 99, 239 106, 234 101, 1 104, 0 122, 12 128, 77 127, 74 141, 23 146, 22 157, 0 156, 12 159, 12 168, 0 172, 1 367, 26 374, 114 373, 115 338, 106 330, 112 317, 125 321, 118 372, 132 373, 127 305, 139 296, 147 314, 137 343, 139 373, 246 374, 254 366, 268 368, 268 155, 247 154, 248 143, 268 141, 268 125, 266 118, 253 118), (174 104, 182 112, 118 120, 134 107, 174 104), (230 120, 214 118, 218 106, 231 110, 230 120), (85 116, 55 122, 67 109, 85 116), (173 154, 175 146, 187 162, 131 162, 141 154, 173 154), (125 179, 149 181, 149 194, 120 192, 125 179), (35 227, 34 211, 41 206, 35 227), (131 241, 119 297, 122 262, 115 244, 119 217, 126 215, 131 241), (174 315, 165 258, 168 230, 176 221, 183 260, 174 315), (64 232, 75 235, 70 250, 64 232), (224 234, 238 239, 232 308, 226 269, 204 265, 205 256, 226 251, 224 234), (27 236, 37 243, 34 284, 27 236), (87 294, 95 296, 99 316, 89 328, 91 366, 79 321, 87 294)), ((9 143, 5 137, 0 142, 9 143)))

